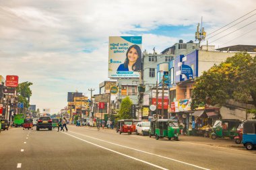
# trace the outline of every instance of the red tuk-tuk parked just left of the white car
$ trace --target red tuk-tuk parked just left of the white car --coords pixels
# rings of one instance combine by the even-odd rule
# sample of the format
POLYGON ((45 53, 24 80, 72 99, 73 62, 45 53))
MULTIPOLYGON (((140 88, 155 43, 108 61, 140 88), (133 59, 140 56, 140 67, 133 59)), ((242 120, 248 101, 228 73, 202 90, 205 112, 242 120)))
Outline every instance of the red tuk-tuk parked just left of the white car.
POLYGON ((121 133, 131 134, 132 132, 135 132, 135 130, 133 130, 133 120, 118 120, 117 132, 119 132, 120 134, 121 133))

